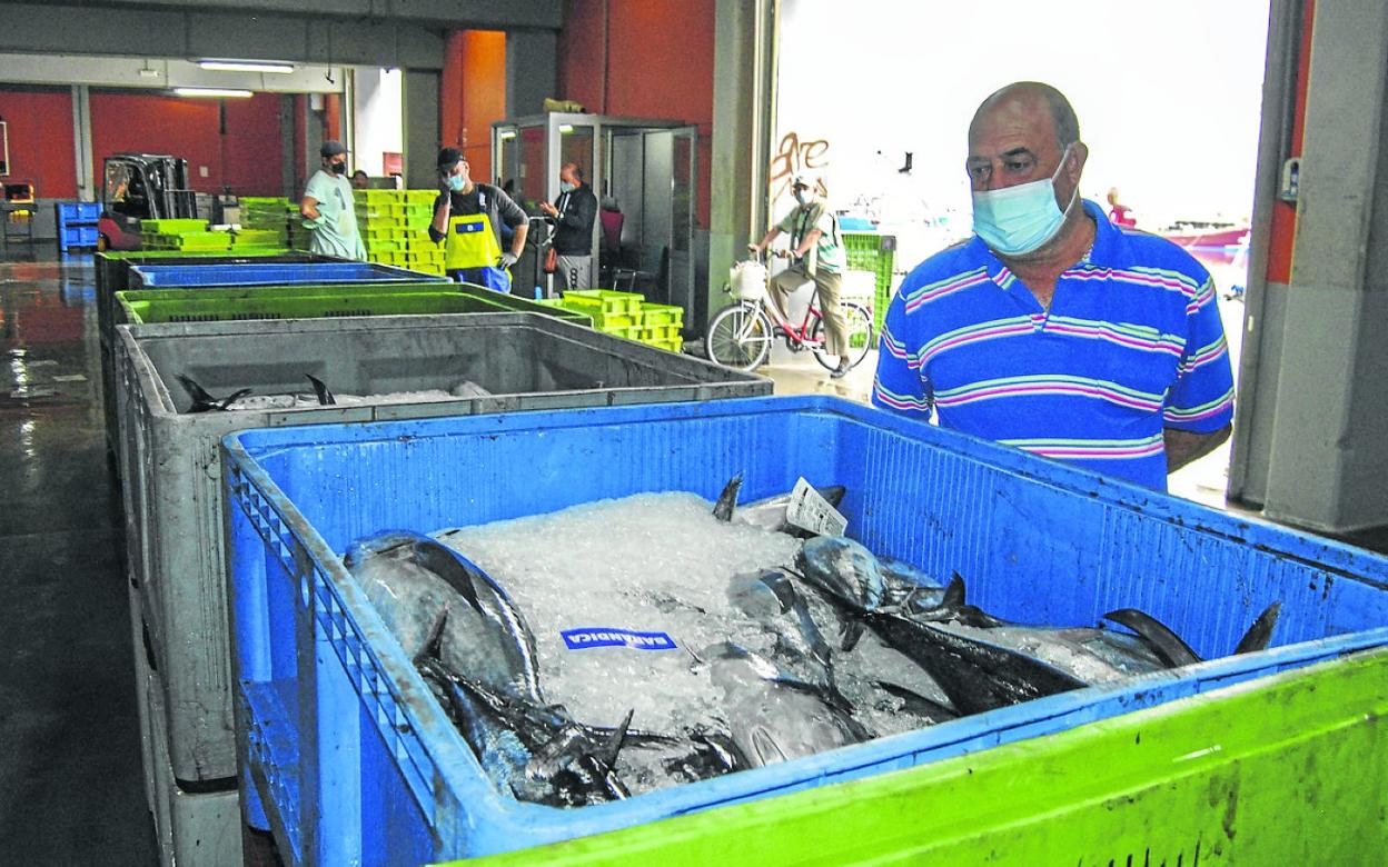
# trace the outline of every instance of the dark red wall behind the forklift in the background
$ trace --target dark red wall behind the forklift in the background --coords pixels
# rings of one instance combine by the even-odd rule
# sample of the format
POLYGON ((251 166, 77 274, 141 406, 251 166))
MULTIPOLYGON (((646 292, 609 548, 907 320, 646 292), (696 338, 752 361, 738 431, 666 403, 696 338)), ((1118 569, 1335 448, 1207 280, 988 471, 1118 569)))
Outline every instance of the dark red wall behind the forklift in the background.
MULTIPOLYGON (((69 139, 68 153, 71 147, 69 139)), ((219 193, 230 186, 243 196, 278 196, 279 96, 208 100, 93 90, 92 157, 97 175, 103 158, 121 151, 183 157, 189 186, 201 193, 219 193), (226 103, 225 132, 222 103, 226 103), (207 178, 201 166, 207 168, 207 178)))

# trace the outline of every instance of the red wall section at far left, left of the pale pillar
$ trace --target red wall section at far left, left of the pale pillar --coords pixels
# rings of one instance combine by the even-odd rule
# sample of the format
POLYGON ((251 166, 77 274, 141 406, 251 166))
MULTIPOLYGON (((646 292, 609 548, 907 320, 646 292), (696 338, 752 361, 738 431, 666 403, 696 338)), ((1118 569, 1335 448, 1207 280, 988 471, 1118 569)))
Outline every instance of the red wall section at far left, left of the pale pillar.
POLYGON ((42 198, 76 198, 72 92, 0 89, 0 119, 10 128, 10 176, 28 180, 42 198))

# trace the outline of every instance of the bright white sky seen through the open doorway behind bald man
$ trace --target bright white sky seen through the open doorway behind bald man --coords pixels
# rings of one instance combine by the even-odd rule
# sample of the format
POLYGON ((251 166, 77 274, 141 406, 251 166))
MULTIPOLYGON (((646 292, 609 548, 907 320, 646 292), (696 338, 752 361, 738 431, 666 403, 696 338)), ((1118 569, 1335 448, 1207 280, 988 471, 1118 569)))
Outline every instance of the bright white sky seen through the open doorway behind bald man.
MULTIPOLYGON (((966 132, 1015 80, 1059 87, 1090 160, 1138 225, 1248 219, 1269 0, 783 0, 777 141, 824 140, 836 208, 954 215, 967 232, 966 132), (897 169, 913 154, 911 175, 897 169)), ((773 143, 775 151, 775 143, 773 143)), ((812 157, 813 158, 813 157, 812 157)))

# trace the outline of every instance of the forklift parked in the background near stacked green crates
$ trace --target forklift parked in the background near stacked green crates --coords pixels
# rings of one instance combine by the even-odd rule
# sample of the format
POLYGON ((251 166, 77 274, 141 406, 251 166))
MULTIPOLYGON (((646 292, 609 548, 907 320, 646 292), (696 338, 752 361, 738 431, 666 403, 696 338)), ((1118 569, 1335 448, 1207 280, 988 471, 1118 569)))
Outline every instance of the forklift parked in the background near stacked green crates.
POLYGON ((97 250, 139 250, 142 219, 197 219, 187 160, 164 154, 112 154, 103 165, 97 250))

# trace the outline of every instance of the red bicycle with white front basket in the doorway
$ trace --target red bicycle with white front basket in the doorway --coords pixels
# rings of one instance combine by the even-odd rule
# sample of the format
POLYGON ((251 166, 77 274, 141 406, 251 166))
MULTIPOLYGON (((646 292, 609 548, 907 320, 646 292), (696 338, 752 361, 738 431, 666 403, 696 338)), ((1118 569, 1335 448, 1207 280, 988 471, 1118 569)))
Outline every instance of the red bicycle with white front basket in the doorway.
MULTIPOLYGON (((837 368, 838 357, 824 350, 823 314, 815 302, 795 325, 770 302, 766 279, 766 266, 759 261, 733 266, 731 279, 723 289, 737 300, 708 323, 704 348, 709 359, 734 370, 755 370, 770 357, 772 341, 784 337, 793 352, 809 350, 826 370, 837 368)), ((873 345, 872 311, 854 302, 840 302, 838 309, 848 326, 848 366, 856 368, 873 345)))

